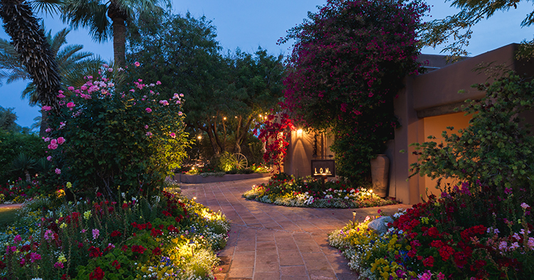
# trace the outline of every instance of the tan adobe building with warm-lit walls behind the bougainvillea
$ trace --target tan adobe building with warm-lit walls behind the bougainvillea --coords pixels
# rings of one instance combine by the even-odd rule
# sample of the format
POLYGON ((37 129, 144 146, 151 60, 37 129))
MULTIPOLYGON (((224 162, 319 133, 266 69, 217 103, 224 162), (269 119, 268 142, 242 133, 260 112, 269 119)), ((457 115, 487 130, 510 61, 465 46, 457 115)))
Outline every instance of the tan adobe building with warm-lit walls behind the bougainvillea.
MULTIPOLYGON (((479 56, 465 58, 462 61, 447 64, 444 56, 419 56, 419 61, 428 61, 427 72, 418 76, 407 76, 404 89, 394 99, 394 114, 397 115, 400 128, 395 130, 394 140, 387 143, 385 154, 389 157, 389 197, 396 197, 402 203, 415 204, 429 194, 439 195, 435 182, 429 177, 419 175, 410 178, 409 166, 417 161, 412 155, 414 142, 425 142, 429 135, 436 137, 435 142, 443 140, 441 133, 447 127, 456 130, 466 128, 470 116, 463 112, 456 113, 466 99, 483 98, 484 92, 471 88, 475 83, 491 82, 484 71, 474 71, 484 64, 506 66, 516 73, 534 76, 533 61, 515 59, 517 43, 497 48, 479 56), (464 90, 464 93, 459 93, 464 90), (399 151, 405 150, 401 153, 399 151)), ((529 123, 534 123, 530 118, 529 123)), ((295 176, 311 175, 310 161, 314 159, 333 159, 330 150, 333 138, 328 135, 314 135, 294 131, 290 135, 288 155, 284 162, 284 172, 295 176)))

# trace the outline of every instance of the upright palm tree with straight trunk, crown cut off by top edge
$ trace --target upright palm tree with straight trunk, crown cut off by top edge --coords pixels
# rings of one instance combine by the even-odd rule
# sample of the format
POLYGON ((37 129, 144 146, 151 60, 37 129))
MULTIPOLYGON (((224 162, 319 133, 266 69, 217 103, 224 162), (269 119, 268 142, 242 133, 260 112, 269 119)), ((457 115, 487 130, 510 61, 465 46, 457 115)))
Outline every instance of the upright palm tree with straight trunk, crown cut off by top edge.
POLYGON ((88 27, 95 41, 103 42, 112 37, 115 65, 124 67, 126 28, 137 17, 162 14, 160 2, 167 9, 171 6, 170 0, 65 0, 61 19, 73 28, 88 27))

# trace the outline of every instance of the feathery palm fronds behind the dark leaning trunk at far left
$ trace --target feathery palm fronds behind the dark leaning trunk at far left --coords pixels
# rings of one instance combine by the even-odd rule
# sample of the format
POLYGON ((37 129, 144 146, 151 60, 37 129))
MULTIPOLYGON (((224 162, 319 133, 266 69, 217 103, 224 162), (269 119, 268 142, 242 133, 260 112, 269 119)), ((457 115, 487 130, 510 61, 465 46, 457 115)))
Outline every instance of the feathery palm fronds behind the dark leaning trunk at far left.
MULTIPOLYGON (((53 56, 58 63, 61 88, 67 88, 69 85, 74 87, 83 85, 85 83, 83 77, 97 76, 98 68, 103 63, 103 60, 98 56, 93 56, 93 53, 81 51, 83 45, 64 46, 67 43, 68 33, 70 33, 70 29, 63 28, 54 36, 51 35, 51 31, 46 34, 46 42, 51 46, 53 56)), ((13 45, 1 38, 0 69, 0 82, 6 79, 6 83, 13 83, 30 78, 26 67, 19 63, 18 53, 16 53, 13 45)), ((40 103, 35 83, 30 82, 26 85, 21 98, 28 98, 32 106, 40 103)))

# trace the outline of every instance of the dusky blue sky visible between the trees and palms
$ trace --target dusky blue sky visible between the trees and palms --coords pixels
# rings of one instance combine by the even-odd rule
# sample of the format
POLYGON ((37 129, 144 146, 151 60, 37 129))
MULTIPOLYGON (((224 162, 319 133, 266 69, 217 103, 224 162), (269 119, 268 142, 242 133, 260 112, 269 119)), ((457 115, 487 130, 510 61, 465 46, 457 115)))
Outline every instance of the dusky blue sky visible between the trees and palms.
MULTIPOLYGON (((211 19, 217 28, 217 38, 221 46, 227 50, 253 52, 258 46, 266 48, 269 53, 288 55, 290 43, 283 46, 276 45, 278 38, 286 35, 286 31, 303 22, 307 18, 308 11, 317 11, 316 6, 325 4, 325 0, 174 0, 173 10, 175 14, 185 14, 189 11, 192 16, 205 15, 211 19)), ((431 19, 441 19, 444 16, 455 14, 456 9, 450 8, 450 2, 443 0, 429 0, 431 5, 431 19)), ((525 16, 533 11, 531 4, 522 2, 518 9, 506 12, 498 12, 488 20, 483 20, 473 28, 473 36, 466 50, 471 56, 491 51, 508 43, 520 43, 524 39, 532 39, 534 27, 521 28, 520 23, 525 16)), ((41 15, 42 16, 42 15, 41 15)), ((65 25, 54 18, 43 16, 46 28, 51 28, 56 33, 65 25)), ((0 38, 9 39, 0 30, 0 38)), ((68 43, 83 44, 84 51, 99 54, 105 59, 112 58, 112 43, 95 43, 88 36, 88 31, 80 28, 71 31, 68 43)), ((441 48, 424 48, 423 53, 439 54, 441 48)), ((6 84, 0 87, 0 105, 4 108, 15 108, 19 119, 17 123, 22 126, 30 126, 33 118, 39 115, 37 107, 30 107, 28 100, 21 100, 21 92, 27 81, 6 84)))

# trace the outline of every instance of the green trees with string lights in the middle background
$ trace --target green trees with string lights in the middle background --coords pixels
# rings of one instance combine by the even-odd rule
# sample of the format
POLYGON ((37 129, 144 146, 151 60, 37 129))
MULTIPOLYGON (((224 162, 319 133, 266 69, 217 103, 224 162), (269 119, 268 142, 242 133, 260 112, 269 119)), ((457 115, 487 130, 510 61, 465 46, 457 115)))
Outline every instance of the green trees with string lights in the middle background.
POLYGON ((204 16, 167 15, 138 26, 127 55, 143 64, 137 73, 159 78, 164 92, 188 96, 185 122, 192 134, 207 135, 214 154, 240 152, 251 125, 283 95, 283 56, 261 48, 221 55, 216 28, 204 16))

